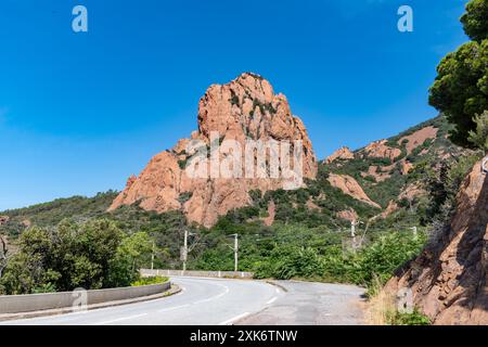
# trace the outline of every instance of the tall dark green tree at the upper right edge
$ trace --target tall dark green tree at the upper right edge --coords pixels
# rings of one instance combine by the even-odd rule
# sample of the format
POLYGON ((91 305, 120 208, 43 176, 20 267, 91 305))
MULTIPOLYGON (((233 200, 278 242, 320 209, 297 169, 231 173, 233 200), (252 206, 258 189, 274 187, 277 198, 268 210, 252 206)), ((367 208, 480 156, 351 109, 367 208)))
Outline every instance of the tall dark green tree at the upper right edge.
POLYGON ((455 126, 454 143, 474 146, 468 141, 476 131, 474 118, 488 110, 488 0, 470 1, 461 23, 472 41, 442 59, 429 103, 455 126))

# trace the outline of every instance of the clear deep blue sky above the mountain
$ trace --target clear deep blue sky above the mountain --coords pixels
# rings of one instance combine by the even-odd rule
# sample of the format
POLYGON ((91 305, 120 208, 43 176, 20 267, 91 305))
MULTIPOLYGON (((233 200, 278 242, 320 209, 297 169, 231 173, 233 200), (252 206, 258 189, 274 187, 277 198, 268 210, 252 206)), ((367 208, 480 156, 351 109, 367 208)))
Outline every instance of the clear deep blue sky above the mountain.
POLYGON ((196 129, 210 83, 243 72, 287 95, 320 158, 396 134, 436 115, 427 89, 466 40, 465 2, 2 0, 0 210, 123 189, 196 129))

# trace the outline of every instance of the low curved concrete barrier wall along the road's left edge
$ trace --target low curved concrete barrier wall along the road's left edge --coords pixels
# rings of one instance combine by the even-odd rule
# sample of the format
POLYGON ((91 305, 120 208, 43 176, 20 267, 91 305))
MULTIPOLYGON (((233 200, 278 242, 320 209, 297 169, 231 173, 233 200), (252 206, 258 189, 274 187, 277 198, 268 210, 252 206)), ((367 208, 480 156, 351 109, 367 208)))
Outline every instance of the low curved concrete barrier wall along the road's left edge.
POLYGON ((171 283, 165 282, 152 285, 129 286, 108 290, 75 291, 28 295, 1 295, 0 314, 27 313, 47 310, 75 310, 78 308, 80 296, 84 296, 82 305, 88 308, 93 305, 116 303, 143 298, 168 291, 171 283))

